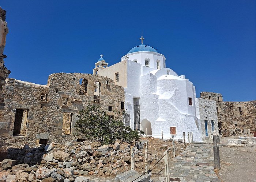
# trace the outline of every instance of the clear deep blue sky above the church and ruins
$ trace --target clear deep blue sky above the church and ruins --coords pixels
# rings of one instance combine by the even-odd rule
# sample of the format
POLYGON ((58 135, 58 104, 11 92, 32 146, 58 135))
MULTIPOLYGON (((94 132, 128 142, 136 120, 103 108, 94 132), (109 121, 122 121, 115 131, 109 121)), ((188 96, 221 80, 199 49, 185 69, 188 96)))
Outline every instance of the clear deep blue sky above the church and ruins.
POLYGON ((256 100, 256 1, 3 0, 10 78, 46 84, 56 72, 92 73, 140 44, 166 67, 225 101, 256 100))

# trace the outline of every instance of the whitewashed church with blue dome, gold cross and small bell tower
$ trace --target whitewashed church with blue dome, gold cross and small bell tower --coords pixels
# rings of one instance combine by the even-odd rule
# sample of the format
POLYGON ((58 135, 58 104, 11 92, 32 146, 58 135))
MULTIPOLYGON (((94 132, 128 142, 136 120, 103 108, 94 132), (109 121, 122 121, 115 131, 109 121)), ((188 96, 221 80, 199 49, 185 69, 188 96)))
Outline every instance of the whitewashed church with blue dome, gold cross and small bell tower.
MULTIPOLYGON (((163 138, 174 135, 178 139, 183 138, 183 132, 192 132, 193 141, 201 142, 205 128, 200 121, 199 99, 193 83, 166 68, 165 56, 143 44, 143 37, 140 40, 139 46, 112 66, 101 55, 93 74, 111 78, 124 88, 125 125, 156 138, 162 138, 163 133, 163 138)), ((218 122, 214 127, 209 123, 216 130, 211 132, 218 134, 218 122)))

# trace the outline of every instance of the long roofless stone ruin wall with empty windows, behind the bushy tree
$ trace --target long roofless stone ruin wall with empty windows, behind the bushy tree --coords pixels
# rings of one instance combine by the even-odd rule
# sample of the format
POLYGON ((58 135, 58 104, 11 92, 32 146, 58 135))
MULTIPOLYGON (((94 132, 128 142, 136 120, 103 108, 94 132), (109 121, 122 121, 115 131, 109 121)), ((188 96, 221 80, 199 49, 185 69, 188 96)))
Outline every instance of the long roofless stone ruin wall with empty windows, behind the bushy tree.
POLYGON ((38 144, 40 139, 41 142, 46 139, 48 143, 65 143, 75 139, 72 134, 75 133, 77 113, 87 104, 93 102, 106 110, 108 115, 114 115, 114 111, 121 111, 121 102, 125 100, 122 87, 116 86, 113 80, 98 75, 52 74, 47 85, 15 79, 6 81, 3 87, 6 106, 0 113, 0 127, 5 131, 1 138, 7 143, 5 147, 19 146, 21 143, 38 144), (88 82, 87 93, 83 92, 83 95, 80 95, 81 78, 88 82), (99 102, 94 101, 95 81, 101 85, 100 96, 97 98, 99 102), (108 106, 112 106, 113 111, 108 111, 108 106), (23 110, 22 116, 20 110, 23 110), (14 130, 17 112, 22 123, 16 124, 18 130, 22 130, 20 133, 14 132, 17 130, 14 130))

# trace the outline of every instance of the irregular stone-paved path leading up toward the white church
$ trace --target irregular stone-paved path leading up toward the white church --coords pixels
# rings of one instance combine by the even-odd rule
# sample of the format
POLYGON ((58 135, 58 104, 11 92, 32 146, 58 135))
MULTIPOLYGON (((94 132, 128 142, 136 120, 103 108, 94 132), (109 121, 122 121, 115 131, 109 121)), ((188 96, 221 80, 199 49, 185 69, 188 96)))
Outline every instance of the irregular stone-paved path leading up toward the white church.
POLYGON ((170 162, 170 178, 183 181, 220 182, 214 172, 213 145, 209 143, 192 143, 170 162), (209 163, 209 166, 196 166, 196 163, 209 163))

